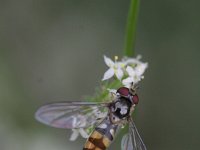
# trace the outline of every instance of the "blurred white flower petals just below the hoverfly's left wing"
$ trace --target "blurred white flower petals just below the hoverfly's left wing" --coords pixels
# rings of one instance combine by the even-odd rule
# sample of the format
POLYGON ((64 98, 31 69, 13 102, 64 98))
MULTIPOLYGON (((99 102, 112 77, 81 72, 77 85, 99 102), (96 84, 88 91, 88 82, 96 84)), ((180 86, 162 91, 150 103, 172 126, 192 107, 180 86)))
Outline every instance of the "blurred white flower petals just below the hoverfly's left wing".
POLYGON ((72 129, 72 134, 70 136, 70 141, 75 141, 79 134, 83 137, 83 138, 88 138, 89 135, 88 133, 83 129, 83 128, 79 128, 79 129, 72 129))

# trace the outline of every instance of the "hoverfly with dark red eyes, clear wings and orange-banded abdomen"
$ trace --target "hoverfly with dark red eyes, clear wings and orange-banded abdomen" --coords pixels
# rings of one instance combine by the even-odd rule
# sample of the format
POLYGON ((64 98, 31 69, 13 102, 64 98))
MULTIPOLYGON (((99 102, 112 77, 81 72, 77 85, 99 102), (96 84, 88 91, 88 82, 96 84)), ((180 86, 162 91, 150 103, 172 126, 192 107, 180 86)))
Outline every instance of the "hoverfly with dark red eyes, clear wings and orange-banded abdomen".
POLYGON ((106 150, 116 133, 128 124, 129 131, 121 141, 121 150, 146 150, 131 118, 139 98, 135 88, 120 87, 111 102, 58 102, 40 107, 36 119, 46 125, 79 129, 93 126, 83 150, 106 150))

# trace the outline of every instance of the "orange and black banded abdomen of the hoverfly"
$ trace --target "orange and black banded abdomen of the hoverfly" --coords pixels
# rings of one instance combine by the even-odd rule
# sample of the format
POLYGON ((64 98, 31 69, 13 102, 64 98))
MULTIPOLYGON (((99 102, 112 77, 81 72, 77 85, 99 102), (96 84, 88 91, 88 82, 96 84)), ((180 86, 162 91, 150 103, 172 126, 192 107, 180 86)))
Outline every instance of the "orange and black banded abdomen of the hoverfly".
POLYGON ((110 123, 105 119, 87 139, 83 150, 106 150, 112 142, 118 125, 110 123))

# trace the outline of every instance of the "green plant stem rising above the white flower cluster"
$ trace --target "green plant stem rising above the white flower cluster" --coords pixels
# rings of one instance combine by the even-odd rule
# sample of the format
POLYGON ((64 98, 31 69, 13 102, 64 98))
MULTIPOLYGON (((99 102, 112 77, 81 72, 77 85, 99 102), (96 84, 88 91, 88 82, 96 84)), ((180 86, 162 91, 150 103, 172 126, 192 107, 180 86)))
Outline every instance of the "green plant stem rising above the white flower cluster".
POLYGON ((134 56, 139 0, 131 0, 126 24, 124 55, 134 56))

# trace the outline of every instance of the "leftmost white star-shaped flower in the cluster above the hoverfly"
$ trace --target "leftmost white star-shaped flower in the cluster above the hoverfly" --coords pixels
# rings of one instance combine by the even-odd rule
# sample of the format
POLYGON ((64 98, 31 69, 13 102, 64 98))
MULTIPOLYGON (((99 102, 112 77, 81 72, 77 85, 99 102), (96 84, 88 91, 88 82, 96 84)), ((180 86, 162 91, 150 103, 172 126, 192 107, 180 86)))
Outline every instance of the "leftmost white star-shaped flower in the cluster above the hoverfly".
POLYGON ((104 73, 103 76, 103 81, 110 79, 111 77, 113 77, 114 75, 121 80, 121 78, 124 75, 123 69, 125 67, 125 64, 123 62, 113 62, 110 58, 104 56, 104 61, 106 63, 106 65, 109 67, 109 69, 104 73))

